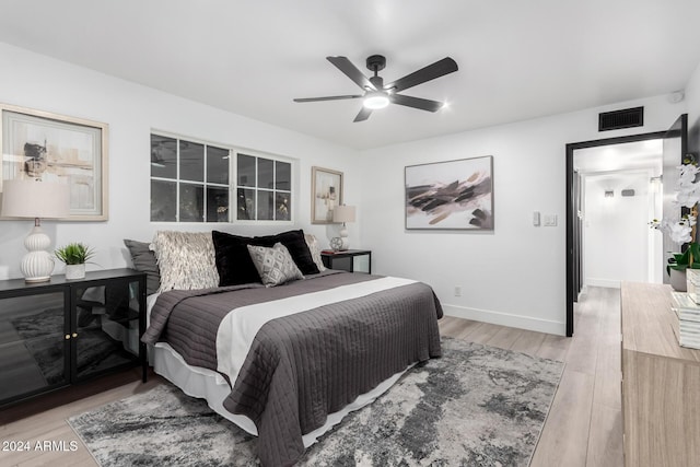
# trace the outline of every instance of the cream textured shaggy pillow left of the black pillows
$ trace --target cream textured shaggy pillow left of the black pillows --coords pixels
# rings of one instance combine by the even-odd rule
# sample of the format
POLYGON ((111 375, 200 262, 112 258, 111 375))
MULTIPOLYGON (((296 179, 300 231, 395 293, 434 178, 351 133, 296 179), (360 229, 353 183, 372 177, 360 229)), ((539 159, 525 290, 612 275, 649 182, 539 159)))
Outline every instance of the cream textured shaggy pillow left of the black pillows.
POLYGON ((219 284, 209 232, 160 231, 153 236, 151 249, 161 269, 159 292, 210 289, 219 284))

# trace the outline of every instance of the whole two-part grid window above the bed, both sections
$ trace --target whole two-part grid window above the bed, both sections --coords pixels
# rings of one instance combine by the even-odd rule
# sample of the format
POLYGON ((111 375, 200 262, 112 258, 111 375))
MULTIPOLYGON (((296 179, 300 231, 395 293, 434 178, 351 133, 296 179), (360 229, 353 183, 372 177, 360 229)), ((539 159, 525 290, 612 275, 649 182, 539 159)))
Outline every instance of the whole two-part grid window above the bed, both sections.
POLYGON ((291 210, 290 160, 151 135, 151 221, 291 221, 291 210))

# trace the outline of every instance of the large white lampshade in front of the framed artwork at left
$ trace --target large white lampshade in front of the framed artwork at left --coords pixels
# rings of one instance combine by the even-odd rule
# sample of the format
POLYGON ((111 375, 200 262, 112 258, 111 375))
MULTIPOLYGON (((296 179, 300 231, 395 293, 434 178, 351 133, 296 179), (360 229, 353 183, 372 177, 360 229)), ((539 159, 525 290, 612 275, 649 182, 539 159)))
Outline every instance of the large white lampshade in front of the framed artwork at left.
POLYGON ((2 215, 5 218, 60 219, 70 212, 68 184, 4 180, 2 215))

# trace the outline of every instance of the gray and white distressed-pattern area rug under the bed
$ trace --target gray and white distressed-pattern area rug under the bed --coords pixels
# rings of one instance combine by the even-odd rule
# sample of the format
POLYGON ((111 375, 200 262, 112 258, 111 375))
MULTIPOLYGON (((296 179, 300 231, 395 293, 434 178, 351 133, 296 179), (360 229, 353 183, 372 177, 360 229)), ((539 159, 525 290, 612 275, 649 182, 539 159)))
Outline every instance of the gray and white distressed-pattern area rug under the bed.
MULTIPOLYGON (((304 466, 527 466, 563 363, 443 338, 443 354, 311 446, 304 466)), ((253 466, 255 436, 170 385, 69 419, 102 466, 253 466)))

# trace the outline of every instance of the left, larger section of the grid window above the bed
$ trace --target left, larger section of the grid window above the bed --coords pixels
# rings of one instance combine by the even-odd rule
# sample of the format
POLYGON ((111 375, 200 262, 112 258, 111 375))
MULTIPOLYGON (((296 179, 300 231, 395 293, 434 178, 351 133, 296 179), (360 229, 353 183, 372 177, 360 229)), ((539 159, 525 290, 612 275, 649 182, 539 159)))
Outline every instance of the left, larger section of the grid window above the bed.
POLYGON ((151 221, 229 222, 231 150, 151 135, 151 221))

